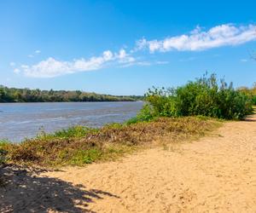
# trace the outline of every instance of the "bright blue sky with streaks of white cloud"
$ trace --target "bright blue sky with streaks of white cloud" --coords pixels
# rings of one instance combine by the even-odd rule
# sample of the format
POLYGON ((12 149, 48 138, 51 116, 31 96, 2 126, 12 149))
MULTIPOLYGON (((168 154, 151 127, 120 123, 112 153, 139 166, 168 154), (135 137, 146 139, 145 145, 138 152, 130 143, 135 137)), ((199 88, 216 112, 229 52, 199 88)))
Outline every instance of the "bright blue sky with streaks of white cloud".
POLYGON ((143 95, 256 82, 256 1, 1 0, 0 84, 143 95))

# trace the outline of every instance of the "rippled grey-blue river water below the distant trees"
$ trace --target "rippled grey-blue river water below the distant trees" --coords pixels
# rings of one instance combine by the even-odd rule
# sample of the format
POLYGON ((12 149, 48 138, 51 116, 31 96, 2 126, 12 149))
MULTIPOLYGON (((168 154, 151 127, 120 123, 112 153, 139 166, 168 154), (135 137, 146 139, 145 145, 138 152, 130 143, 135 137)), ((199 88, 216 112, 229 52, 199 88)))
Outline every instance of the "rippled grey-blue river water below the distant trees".
POLYGON ((20 142, 40 130, 54 132, 73 125, 101 127, 122 123, 143 107, 136 102, 1 103, 0 139, 20 142))

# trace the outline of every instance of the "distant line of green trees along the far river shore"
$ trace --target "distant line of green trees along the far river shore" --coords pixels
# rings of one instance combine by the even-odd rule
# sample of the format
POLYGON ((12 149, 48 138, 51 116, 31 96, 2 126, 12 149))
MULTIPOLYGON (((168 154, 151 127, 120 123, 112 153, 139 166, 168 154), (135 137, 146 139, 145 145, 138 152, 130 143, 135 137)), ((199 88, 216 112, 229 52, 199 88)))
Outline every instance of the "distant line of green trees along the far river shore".
POLYGON ((16 89, 0 86, 0 102, 140 101, 139 95, 101 95, 80 90, 16 89))

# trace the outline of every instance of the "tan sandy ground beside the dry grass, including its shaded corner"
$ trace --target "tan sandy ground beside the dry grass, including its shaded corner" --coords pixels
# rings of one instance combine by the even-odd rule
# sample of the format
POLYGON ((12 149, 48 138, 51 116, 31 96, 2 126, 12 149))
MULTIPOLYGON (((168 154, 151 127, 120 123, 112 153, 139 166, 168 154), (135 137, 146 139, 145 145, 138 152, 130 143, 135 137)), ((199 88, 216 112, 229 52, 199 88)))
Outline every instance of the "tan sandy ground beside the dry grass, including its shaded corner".
POLYGON ((199 141, 35 179, 33 190, 3 194, 6 212, 256 212, 256 116, 199 141))

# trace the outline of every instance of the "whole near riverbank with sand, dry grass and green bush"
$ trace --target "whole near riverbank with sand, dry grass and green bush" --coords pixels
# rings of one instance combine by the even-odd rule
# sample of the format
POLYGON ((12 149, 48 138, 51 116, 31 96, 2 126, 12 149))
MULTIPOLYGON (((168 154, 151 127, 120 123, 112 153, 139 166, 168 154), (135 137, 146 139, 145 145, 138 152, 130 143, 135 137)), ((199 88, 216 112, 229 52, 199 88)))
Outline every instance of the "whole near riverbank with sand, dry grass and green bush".
POLYGON ((2 211, 253 212, 255 117, 216 119, 246 118, 251 98, 231 85, 218 89, 212 75, 176 90, 149 89, 146 100, 124 124, 3 142, 2 211), (102 164, 84 166, 94 162, 102 164))

